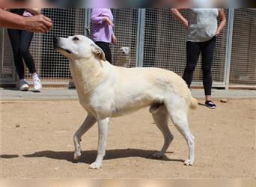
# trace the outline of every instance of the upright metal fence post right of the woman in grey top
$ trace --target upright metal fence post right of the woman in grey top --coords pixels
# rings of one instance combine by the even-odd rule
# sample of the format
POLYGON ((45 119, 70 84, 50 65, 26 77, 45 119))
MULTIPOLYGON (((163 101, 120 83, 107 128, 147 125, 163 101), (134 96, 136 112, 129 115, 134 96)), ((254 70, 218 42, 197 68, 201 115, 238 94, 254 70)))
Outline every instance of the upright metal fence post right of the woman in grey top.
POLYGON ((228 11, 228 34, 226 44, 226 60, 225 60, 225 89, 228 90, 229 74, 231 70, 231 51, 232 51, 232 36, 233 36, 233 23, 234 23, 234 8, 228 11))

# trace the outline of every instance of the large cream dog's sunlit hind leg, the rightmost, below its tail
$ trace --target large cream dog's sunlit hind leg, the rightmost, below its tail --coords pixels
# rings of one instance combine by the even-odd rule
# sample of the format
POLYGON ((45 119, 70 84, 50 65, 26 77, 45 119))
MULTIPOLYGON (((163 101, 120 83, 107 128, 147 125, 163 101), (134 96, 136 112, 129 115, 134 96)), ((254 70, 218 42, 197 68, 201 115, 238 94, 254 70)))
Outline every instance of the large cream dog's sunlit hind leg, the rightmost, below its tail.
POLYGON ((165 105, 174 126, 176 126, 180 134, 186 139, 186 143, 189 147, 189 159, 184 162, 184 165, 193 165, 195 161, 195 138, 189 131, 189 124, 187 120, 188 106, 185 101, 182 101, 181 99, 179 101, 178 99, 173 98, 173 100, 176 100, 176 103, 165 103, 165 105))

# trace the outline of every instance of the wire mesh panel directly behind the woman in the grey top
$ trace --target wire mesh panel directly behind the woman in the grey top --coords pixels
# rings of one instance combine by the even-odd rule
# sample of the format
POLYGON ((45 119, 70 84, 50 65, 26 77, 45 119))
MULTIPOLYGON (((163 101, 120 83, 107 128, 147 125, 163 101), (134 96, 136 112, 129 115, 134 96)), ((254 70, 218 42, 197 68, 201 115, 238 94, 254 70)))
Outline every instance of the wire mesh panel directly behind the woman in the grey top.
MULTIPOLYGON (((187 10, 181 13, 187 18, 187 10)), ((228 10, 225 11, 226 15, 228 10)), ((227 16, 228 17, 228 16, 227 16)), ((224 82, 227 28, 217 38, 213 60, 213 83, 224 82)), ((201 58, 193 82, 201 82, 201 58)), ((170 9, 147 9, 144 34, 144 67, 161 67, 182 76, 186 66, 186 28, 174 19, 170 9)))

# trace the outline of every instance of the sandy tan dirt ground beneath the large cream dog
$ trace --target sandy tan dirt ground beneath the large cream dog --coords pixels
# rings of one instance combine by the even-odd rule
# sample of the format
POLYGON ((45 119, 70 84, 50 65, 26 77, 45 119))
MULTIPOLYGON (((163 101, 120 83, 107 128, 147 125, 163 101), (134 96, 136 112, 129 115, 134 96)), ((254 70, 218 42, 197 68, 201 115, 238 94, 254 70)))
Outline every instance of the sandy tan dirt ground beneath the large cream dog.
MULTIPOLYGON (((199 101, 203 102, 203 100, 199 101)), ((88 169, 97 153, 97 125, 82 138, 82 158, 73 163, 73 134, 85 119, 78 101, 1 102, 1 178, 252 178, 255 177, 256 99, 216 100, 216 109, 189 111, 195 164, 184 166, 188 147, 169 122, 174 141, 164 159, 148 108, 112 118, 106 158, 88 169)))

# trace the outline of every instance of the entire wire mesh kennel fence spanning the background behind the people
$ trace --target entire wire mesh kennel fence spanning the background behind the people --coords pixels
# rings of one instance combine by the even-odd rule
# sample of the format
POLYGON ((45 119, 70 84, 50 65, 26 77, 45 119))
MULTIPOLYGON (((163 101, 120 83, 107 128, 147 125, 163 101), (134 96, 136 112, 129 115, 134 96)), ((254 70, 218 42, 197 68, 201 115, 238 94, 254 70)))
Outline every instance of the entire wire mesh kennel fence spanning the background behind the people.
MULTIPOLYGON (((227 19, 230 19, 229 11, 231 9, 225 10, 227 19)), ((34 34, 30 51, 36 62, 37 72, 43 84, 68 85, 71 74, 67 58, 53 49, 52 37, 85 35, 85 28, 90 25, 90 9, 53 8, 43 9, 42 13, 53 20, 54 26, 47 34, 34 34)), ((186 29, 174 19, 170 9, 147 8, 144 13, 141 13, 141 9, 112 9, 112 13, 115 19, 114 31, 118 38, 118 45, 111 45, 113 64, 118 61, 118 49, 121 46, 129 46, 129 67, 138 66, 137 59, 142 59, 142 67, 160 67, 182 76, 186 66, 186 29), (138 36, 143 36, 142 40, 138 36)), ((188 16, 186 10, 181 13, 185 17, 188 16)), ((227 45, 228 24, 217 38, 213 60, 213 86, 225 87, 227 77, 231 85, 256 85, 255 18, 256 10, 234 10, 232 47, 227 45), (228 51, 231 52, 230 67, 226 65, 228 51), (227 68, 230 68, 230 71, 227 71, 227 68), (226 72, 230 72, 229 76, 226 72)), ((14 82, 16 73, 13 68, 12 49, 5 29, 0 30, 0 43, 0 82, 14 82)), ((30 80, 27 70, 26 76, 30 80)), ((201 82, 199 58, 192 85, 201 86, 201 82)))

